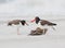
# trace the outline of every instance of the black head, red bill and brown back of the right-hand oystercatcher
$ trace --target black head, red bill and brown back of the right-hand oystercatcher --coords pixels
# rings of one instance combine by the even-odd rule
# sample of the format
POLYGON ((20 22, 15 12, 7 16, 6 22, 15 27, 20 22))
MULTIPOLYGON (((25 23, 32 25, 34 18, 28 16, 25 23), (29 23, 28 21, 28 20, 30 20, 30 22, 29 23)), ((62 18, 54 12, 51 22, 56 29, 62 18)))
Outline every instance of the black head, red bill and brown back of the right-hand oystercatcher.
POLYGON ((47 20, 40 20, 38 16, 35 17, 35 20, 30 21, 30 22, 35 22, 36 21, 36 24, 38 24, 40 22, 41 25, 48 25, 48 26, 54 26, 56 25, 55 23, 51 23, 47 20))

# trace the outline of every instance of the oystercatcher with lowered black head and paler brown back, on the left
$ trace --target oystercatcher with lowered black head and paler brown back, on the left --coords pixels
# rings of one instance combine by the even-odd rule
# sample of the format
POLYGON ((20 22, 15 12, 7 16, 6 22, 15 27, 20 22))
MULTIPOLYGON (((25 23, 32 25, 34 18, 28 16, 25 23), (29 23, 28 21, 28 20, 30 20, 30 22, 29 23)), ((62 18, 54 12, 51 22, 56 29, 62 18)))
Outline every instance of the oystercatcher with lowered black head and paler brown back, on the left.
MULTIPOLYGON (((25 24, 28 25, 25 20, 13 20, 13 21, 10 21, 10 22, 8 23, 8 26, 12 26, 12 24, 18 26, 20 23, 21 23, 23 26, 24 26, 25 24)), ((20 33, 18 33, 18 27, 17 27, 17 35, 20 35, 20 33)))

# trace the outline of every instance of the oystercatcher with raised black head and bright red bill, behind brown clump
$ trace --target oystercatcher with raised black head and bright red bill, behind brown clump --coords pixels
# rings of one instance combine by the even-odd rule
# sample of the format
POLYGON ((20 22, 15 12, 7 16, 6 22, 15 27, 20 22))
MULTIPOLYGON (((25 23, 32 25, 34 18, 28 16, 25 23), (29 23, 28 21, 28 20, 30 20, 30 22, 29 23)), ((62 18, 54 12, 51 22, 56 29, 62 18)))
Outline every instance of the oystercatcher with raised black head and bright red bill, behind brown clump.
POLYGON ((55 29, 53 26, 56 25, 55 23, 49 22, 47 20, 40 20, 38 16, 36 16, 35 20, 31 20, 30 22, 36 22, 36 24, 40 23, 40 26, 44 29, 44 33, 47 33, 49 26, 52 26, 52 28, 55 29))

